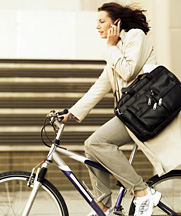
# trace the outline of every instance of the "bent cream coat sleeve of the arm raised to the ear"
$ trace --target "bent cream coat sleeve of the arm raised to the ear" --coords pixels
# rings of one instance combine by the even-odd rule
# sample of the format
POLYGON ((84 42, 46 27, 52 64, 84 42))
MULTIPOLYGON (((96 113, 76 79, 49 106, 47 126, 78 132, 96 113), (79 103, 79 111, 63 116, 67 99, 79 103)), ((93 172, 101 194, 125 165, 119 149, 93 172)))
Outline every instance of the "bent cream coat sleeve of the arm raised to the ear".
POLYGON ((105 50, 104 58, 124 81, 129 82, 141 71, 152 50, 145 33, 132 29, 124 41, 120 40, 117 46, 105 50))

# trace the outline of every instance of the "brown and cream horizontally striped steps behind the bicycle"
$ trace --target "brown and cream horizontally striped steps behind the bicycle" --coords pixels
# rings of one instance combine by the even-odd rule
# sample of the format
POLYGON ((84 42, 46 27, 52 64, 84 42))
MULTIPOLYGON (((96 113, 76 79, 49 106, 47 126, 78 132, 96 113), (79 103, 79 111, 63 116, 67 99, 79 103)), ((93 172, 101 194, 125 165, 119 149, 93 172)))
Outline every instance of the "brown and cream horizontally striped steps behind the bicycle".
MULTIPOLYGON (((103 61, 0 60, 0 172, 31 171, 46 157, 47 147, 40 138, 46 114, 71 107, 96 81, 104 65, 103 61)), ((84 155, 84 140, 113 116, 110 92, 81 124, 67 123, 61 145, 84 155)), ((131 148, 123 147, 127 157, 131 148)), ((87 168, 62 158, 80 181, 91 187, 87 168)), ((139 150, 133 165, 144 179, 153 175, 152 165, 139 150)), ((55 164, 51 166, 47 178, 59 189, 73 189, 55 164)), ((112 177, 111 184, 113 189, 117 187, 112 177)))

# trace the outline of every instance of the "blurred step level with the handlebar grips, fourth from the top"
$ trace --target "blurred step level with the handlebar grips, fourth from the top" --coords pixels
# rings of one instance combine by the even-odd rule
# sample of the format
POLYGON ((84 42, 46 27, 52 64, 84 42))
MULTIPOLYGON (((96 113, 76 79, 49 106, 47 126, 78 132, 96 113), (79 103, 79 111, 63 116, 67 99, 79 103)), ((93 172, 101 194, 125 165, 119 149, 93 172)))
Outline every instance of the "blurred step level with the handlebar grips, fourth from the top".
MULTIPOLYGON (((62 110, 62 109, 60 109, 62 110)), ((0 126, 42 126, 49 109, 0 109, 0 126), (42 112, 40 112, 42 111, 42 112)), ((102 125, 114 116, 113 109, 94 109, 82 121, 82 126, 102 125)), ((68 125, 79 124, 69 120, 68 125)))

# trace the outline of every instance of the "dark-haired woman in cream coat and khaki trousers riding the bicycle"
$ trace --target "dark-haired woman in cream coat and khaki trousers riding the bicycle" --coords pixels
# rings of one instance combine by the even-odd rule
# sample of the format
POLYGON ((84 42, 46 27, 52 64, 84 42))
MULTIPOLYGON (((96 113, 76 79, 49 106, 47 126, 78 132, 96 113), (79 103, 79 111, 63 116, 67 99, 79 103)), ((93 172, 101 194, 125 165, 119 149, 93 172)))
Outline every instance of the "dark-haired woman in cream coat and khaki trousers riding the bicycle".
MULTIPOLYGON (((107 65, 95 84, 65 115, 64 122, 70 116, 81 122, 111 89, 120 98, 119 89, 143 73, 145 64, 157 63, 153 46, 147 38, 149 27, 142 10, 117 3, 103 4, 98 8, 97 30, 100 37, 107 40, 104 50, 107 65)), ((133 140, 125 125, 113 117, 85 141, 85 154, 101 163, 127 190, 134 193, 136 216, 149 216, 161 194, 147 187, 119 150, 120 146, 128 143, 133 143, 133 140)), ((100 208, 111 215, 109 174, 94 169, 89 173, 100 208)), ((96 213, 89 215, 94 216, 96 213)))

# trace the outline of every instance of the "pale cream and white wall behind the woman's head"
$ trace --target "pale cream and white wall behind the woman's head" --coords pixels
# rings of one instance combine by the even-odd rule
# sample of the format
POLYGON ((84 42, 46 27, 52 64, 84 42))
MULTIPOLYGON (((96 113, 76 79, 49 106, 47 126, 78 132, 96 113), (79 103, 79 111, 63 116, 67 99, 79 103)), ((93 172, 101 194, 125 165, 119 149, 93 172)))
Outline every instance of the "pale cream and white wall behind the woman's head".
MULTIPOLYGON (((0 58, 101 59, 96 10, 105 0, 0 0, 0 58)), ((179 77, 180 0, 117 0, 147 10, 160 64, 179 77)))

